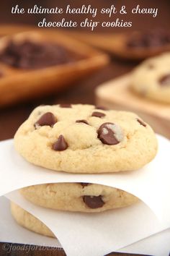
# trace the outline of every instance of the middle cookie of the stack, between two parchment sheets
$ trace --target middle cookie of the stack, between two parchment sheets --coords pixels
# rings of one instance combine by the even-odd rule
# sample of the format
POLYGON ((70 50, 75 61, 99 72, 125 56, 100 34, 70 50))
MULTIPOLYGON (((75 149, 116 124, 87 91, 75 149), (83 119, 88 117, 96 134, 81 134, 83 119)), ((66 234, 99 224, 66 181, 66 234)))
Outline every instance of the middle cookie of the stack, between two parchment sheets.
POLYGON ((91 183, 40 184, 24 187, 20 192, 35 205, 83 213, 122 208, 138 201, 121 189, 91 183))

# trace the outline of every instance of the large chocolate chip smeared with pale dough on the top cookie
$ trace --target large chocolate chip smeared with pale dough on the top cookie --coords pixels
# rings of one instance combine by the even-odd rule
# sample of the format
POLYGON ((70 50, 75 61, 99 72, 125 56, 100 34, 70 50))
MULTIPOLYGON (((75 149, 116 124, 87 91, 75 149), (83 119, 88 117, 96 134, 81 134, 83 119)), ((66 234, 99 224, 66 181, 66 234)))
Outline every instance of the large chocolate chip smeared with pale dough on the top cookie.
POLYGON ((99 127, 98 138, 103 144, 116 145, 123 139, 122 129, 113 123, 104 123, 99 127))

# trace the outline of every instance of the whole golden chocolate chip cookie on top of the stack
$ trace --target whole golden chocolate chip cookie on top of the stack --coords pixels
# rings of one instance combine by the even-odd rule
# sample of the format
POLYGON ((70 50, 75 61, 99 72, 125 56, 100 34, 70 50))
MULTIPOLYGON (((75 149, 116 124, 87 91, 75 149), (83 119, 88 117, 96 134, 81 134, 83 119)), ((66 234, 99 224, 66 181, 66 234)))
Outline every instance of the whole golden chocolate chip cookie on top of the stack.
POLYGON ((136 114, 81 104, 35 108, 14 145, 30 163, 71 173, 133 171, 157 152, 156 135, 136 114))

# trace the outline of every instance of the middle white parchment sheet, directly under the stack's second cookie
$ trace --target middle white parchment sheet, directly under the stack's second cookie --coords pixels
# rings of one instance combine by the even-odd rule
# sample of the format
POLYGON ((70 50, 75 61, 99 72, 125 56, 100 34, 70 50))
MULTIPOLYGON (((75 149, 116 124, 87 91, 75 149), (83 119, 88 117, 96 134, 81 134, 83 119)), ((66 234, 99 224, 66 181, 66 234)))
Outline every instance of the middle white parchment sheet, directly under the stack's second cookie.
POLYGON ((99 256, 137 242, 170 227, 143 202, 104 213, 68 213, 40 208, 20 195, 6 195, 47 225, 68 256, 99 256))

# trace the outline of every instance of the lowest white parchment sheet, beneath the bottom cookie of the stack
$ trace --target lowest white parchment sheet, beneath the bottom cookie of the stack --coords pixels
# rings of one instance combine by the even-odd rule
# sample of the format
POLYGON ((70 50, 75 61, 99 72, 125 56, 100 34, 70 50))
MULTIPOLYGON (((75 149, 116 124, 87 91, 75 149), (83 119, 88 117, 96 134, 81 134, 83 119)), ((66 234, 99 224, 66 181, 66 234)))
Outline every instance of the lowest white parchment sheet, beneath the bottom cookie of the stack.
MULTIPOLYGON (((0 211, 0 242, 12 242, 22 244, 35 244, 44 247, 61 247, 56 239, 35 234, 22 226, 17 225, 10 214, 9 200, 6 197, 0 197, 0 205, 3 210, 0 211)), ((118 252, 141 253, 154 256, 169 255, 170 251, 170 229, 159 232, 147 239, 140 240, 128 247, 119 249, 118 252)), ((6 251, 10 252, 11 246, 6 246, 6 251)), ((28 248, 29 249, 29 248, 28 248)))

